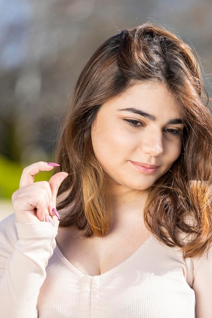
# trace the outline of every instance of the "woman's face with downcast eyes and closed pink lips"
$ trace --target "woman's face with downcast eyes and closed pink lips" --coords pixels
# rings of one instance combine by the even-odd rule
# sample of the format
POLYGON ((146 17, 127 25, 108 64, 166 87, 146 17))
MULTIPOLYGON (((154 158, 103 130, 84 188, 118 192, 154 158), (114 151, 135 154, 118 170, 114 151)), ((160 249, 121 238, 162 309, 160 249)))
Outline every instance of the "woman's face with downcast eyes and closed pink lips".
POLYGON ((136 84, 103 104, 92 144, 109 186, 152 186, 179 156, 183 129, 177 105, 161 83, 136 84))

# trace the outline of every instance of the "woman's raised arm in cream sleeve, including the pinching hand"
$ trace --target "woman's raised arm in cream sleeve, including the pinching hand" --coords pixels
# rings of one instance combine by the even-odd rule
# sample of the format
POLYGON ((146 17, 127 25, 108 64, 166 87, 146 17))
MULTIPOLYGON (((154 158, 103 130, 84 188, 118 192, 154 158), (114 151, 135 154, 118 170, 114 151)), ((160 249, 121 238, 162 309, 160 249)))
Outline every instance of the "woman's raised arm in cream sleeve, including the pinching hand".
POLYGON ((68 174, 59 172, 49 182, 35 183, 34 176, 52 169, 40 162, 23 170, 20 188, 12 197, 16 223, 6 219, 0 226, 0 308, 4 318, 37 317, 39 291, 55 247, 53 208, 58 187, 68 174))

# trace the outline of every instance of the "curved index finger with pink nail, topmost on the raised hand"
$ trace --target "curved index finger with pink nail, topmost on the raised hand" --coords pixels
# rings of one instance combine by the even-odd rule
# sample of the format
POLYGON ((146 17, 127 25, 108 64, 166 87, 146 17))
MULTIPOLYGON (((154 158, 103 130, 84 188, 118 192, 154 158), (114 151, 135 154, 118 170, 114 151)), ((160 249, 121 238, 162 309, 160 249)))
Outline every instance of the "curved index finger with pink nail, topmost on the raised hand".
POLYGON ((19 187, 31 184, 34 182, 35 175, 38 174, 40 171, 51 171, 53 170, 54 166, 51 164, 49 165, 46 162, 40 161, 35 164, 32 164, 23 169, 19 187))

